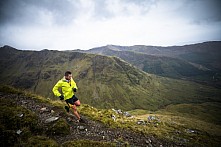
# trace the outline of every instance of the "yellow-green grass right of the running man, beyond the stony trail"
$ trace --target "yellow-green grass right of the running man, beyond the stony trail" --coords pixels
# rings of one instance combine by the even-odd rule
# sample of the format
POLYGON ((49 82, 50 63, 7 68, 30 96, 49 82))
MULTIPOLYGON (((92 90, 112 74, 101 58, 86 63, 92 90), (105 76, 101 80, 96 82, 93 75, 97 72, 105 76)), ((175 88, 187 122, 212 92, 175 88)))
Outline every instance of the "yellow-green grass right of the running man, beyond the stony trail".
MULTIPOLYGON (((189 108, 191 107, 197 106, 189 106, 189 108)), ((182 109, 181 106, 179 109, 182 109)), ((201 109, 198 111, 196 114, 202 112, 201 109)), ((113 128, 124 128, 144 134, 152 134, 172 142, 182 142, 187 146, 219 146, 221 139, 221 126, 217 124, 219 120, 212 119, 213 116, 209 115, 209 113, 206 116, 207 119, 211 117, 210 121, 204 120, 205 118, 202 114, 199 116, 187 112, 175 113, 176 111, 173 111, 172 113, 165 110, 157 112, 134 110, 131 111, 133 117, 129 118, 117 114, 113 110, 96 109, 89 105, 82 106, 80 112, 113 128), (113 114, 116 116, 115 121, 111 118, 113 114), (159 121, 149 122, 148 116, 154 116, 159 121), (146 124, 138 125, 137 121, 139 120, 144 120, 146 124), (212 122, 212 120, 215 121, 212 122)), ((219 116, 219 114, 215 116, 219 116)))

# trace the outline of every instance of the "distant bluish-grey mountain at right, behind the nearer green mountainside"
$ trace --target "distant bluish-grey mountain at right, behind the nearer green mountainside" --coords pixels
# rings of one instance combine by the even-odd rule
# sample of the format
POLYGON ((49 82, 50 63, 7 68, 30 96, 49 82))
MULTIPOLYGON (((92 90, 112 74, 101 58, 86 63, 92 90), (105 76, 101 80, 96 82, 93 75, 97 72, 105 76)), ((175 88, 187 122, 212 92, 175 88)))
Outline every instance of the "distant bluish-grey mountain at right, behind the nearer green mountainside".
POLYGON ((171 47, 108 45, 86 52, 120 57, 148 73, 221 86, 220 41, 171 47))

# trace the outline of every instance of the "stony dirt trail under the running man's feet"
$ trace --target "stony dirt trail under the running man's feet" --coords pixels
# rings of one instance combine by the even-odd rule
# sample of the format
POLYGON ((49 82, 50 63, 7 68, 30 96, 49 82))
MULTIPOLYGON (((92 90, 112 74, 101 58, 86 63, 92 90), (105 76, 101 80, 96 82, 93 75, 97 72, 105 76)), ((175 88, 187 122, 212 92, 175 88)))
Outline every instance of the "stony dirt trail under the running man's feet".
POLYGON ((0 93, 0 98, 11 99, 18 106, 31 110, 38 116, 38 123, 43 126, 48 118, 59 117, 59 119, 64 118, 67 120, 70 126, 70 134, 50 136, 50 138, 56 140, 56 142, 60 145, 66 141, 84 139, 102 142, 115 142, 117 146, 125 146, 126 143, 129 143, 130 146, 183 146, 157 139, 151 135, 135 133, 133 131, 120 128, 108 128, 100 122, 90 120, 86 116, 82 116, 86 123, 78 123, 75 121, 76 119, 74 116, 72 114, 67 114, 64 109, 54 107, 47 103, 42 103, 37 99, 33 99, 22 94, 0 93))

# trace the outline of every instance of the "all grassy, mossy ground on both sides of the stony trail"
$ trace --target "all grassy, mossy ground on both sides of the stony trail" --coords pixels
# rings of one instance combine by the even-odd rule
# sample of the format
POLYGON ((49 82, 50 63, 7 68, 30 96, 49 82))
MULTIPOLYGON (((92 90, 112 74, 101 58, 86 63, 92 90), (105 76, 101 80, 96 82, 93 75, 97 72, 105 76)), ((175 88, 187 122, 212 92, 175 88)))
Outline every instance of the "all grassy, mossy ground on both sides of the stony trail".
MULTIPOLYGON (((17 93, 18 95, 28 95, 29 98, 35 99, 42 104, 50 104, 53 107, 57 107, 61 111, 65 103, 61 101, 53 101, 45 99, 43 97, 32 95, 30 93, 21 92, 17 89, 11 87, 1 87, 0 91, 5 90, 7 93, 17 93)), ((0 130, 2 132, 1 142, 3 145, 13 146, 14 143, 19 143, 20 145, 35 144, 40 143, 46 146, 56 146, 59 143, 53 138, 53 135, 67 135, 70 133, 69 125, 66 119, 59 119, 55 123, 49 124, 47 131, 45 126, 41 126, 38 123, 38 118, 36 114, 24 107, 16 105, 15 101, 10 99, 0 99, 1 100, 1 112, 0 112, 0 130), (22 115, 23 114, 23 115, 22 115), (22 130, 22 133, 18 135, 16 131, 22 130), (31 139, 30 139, 31 137, 31 139)), ((219 118, 219 114, 215 114, 219 110, 217 104, 202 104, 202 105, 174 105, 169 106, 160 111, 152 112, 147 110, 133 110, 130 113, 133 117, 125 117, 122 114, 117 114, 110 109, 97 109, 91 107, 90 105, 82 104, 79 107, 80 114, 87 116, 91 120, 101 122, 105 124, 106 127, 130 130, 133 132, 141 134, 149 134, 160 138, 161 140, 166 140, 168 142, 176 142, 185 146, 219 146, 221 139, 221 127, 218 119, 214 119, 211 115, 213 114, 219 118), (217 107, 212 107, 217 106, 217 107), (191 109, 186 108, 198 108, 194 109, 194 113, 189 113, 191 109), (205 108, 210 108, 211 113, 202 113, 205 108), (188 111, 184 111, 188 110, 188 111), (197 115, 199 114, 199 115, 197 115), (115 120, 112 116, 115 116, 115 120), (148 122, 147 117, 154 116, 160 121, 148 122), (205 116, 210 121, 205 121, 205 116), (209 117, 210 116, 210 117, 209 117), (138 125, 138 120, 144 120, 145 124, 138 125)), ((59 111, 60 111, 59 110, 59 111)), ((73 140, 71 140, 73 141, 73 140)), ((74 139, 73 142, 70 140, 68 142, 63 142, 63 146, 70 146, 74 144, 86 146, 105 146, 116 145, 105 141, 93 141, 81 139, 74 139)), ((125 138, 123 140, 126 141, 125 138)), ((127 145, 127 143, 125 144, 127 145)))

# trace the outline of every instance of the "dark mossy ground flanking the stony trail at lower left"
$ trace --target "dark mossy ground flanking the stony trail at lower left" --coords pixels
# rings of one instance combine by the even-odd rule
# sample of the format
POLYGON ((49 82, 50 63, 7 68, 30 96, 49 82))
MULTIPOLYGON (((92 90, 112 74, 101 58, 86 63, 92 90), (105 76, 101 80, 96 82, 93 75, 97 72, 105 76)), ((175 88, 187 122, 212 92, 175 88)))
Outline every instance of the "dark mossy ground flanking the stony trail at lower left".
MULTIPOLYGON (((3 86, 0 91, 22 95, 25 92, 3 86)), ((44 103, 42 97, 26 93, 29 99, 44 103)), ((69 133, 69 126, 64 119, 43 125, 35 112, 17 104, 17 99, 10 95, 0 98, 0 130, 2 146, 58 146, 58 143, 47 137, 69 133)))

